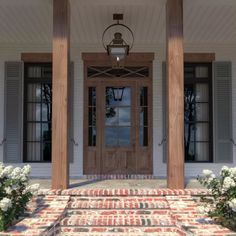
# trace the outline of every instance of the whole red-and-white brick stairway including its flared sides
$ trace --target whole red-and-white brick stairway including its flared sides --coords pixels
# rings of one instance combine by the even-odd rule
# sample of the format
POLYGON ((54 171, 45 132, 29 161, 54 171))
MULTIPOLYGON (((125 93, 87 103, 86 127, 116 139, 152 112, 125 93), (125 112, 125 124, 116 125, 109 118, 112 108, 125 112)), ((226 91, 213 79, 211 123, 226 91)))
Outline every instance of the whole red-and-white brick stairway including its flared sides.
POLYGON ((0 235, 236 236, 197 211, 206 190, 41 190, 28 217, 0 235))

